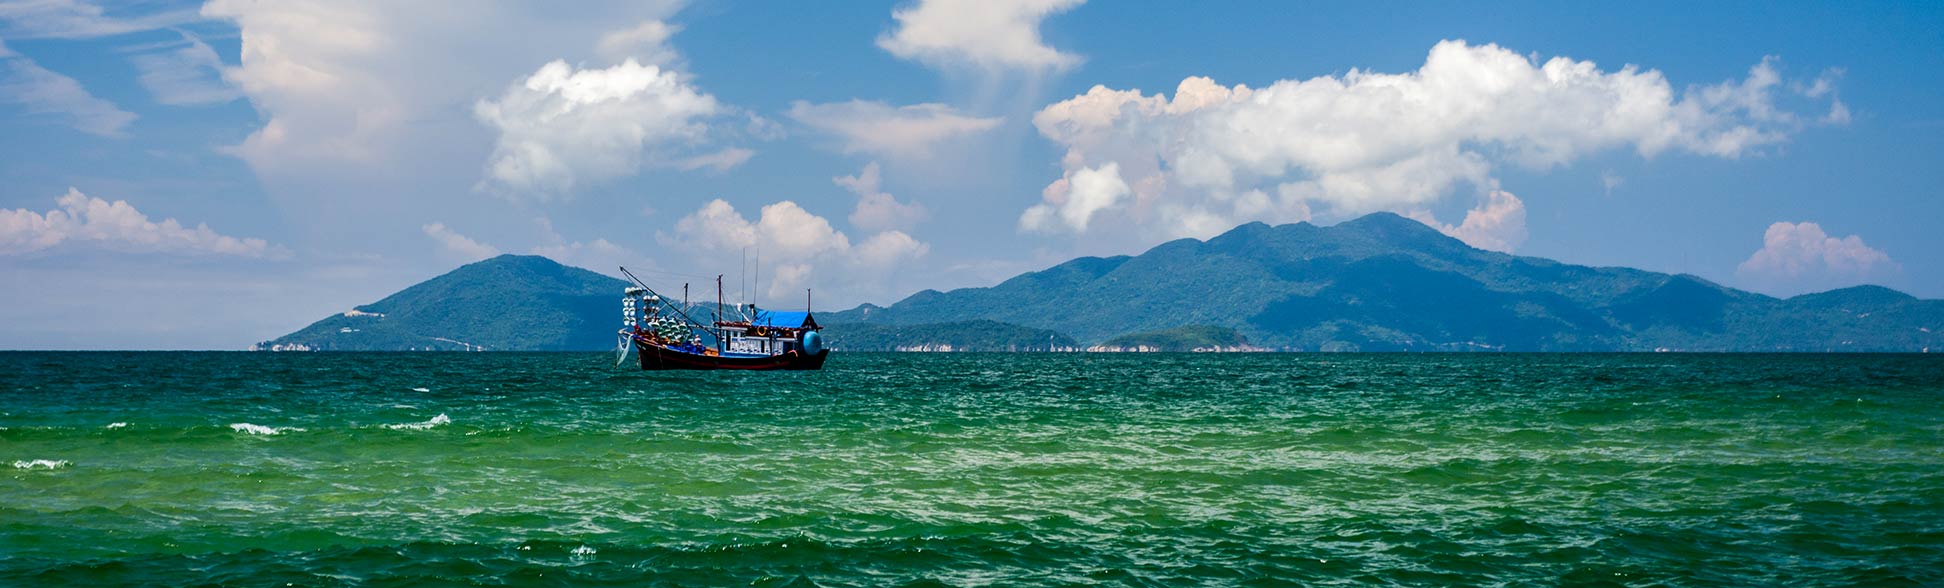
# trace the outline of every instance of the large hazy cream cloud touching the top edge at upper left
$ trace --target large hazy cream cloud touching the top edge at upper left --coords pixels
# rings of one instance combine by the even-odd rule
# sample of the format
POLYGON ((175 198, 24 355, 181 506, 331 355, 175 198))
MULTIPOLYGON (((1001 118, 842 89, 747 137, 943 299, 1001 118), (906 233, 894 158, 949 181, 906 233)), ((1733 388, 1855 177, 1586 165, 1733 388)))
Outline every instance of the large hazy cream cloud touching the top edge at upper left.
POLYGON ((659 21, 675 8, 653 0, 581 2, 570 12, 437 0, 210 0, 202 16, 235 23, 241 64, 224 78, 264 117, 233 152, 259 175, 315 185, 387 169, 424 177, 447 158, 474 158, 455 146, 490 138, 455 105, 531 76, 537 64, 591 58, 593 39, 614 23, 659 21))

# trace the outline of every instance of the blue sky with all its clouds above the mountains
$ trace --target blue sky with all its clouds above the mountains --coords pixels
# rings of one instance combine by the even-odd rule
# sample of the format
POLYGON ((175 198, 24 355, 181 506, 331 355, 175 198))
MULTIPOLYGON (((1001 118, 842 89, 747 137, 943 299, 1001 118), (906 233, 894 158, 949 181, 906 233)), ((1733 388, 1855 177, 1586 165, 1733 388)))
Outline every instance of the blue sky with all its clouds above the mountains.
POLYGON ((1934 2, 0 0, 0 349, 245 349, 500 253, 834 310, 1378 210, 1944 298, 1940 70, 1934 2))

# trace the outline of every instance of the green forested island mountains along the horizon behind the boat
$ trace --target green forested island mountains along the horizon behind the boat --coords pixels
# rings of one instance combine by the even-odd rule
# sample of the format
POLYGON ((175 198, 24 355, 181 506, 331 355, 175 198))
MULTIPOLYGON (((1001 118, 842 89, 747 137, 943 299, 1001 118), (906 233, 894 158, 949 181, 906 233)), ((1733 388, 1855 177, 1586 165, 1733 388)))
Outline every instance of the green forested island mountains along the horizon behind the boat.
MULTIPOLYGON (((624 286, 500 255, 253 349, 612 349, 624 286)), ((1244 224, 816 319, 840 350, 1944 350, 1944 300, 1882 286, 1773 298, 1475 249, 1388 212, 1244 224)))

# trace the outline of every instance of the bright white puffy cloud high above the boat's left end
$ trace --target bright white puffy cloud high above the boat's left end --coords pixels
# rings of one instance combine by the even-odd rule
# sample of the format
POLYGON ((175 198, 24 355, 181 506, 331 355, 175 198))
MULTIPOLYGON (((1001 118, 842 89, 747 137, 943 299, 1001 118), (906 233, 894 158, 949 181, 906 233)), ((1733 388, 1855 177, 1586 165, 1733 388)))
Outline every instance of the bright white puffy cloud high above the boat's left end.
POLYGON ((554 60, 498 101, 474 105, 480 123, 500 132, 486 185, 540 199, 636 173, 645 152, 702 140, 702 119, 721 111, 675 72, 634 58, 589 70, 554 60))

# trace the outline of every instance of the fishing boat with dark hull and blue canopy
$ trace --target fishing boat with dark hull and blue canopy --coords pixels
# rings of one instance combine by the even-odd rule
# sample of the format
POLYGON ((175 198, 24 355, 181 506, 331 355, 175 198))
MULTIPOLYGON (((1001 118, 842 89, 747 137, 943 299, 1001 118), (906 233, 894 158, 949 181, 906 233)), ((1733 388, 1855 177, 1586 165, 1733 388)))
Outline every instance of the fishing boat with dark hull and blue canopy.
POLYGON ((729 310, 721 300, 721 276, 715 276, 715 315, 704 325, 690 315, 694 308, 686 300, 677 306, 626 267, 622 273, 636 286, 622 292, 616 366, 632 352, 642 370, 820 370, 830 356, 809 310, 809 290, 803 312, 756 304, 729 310))

